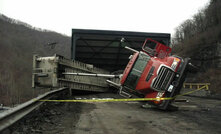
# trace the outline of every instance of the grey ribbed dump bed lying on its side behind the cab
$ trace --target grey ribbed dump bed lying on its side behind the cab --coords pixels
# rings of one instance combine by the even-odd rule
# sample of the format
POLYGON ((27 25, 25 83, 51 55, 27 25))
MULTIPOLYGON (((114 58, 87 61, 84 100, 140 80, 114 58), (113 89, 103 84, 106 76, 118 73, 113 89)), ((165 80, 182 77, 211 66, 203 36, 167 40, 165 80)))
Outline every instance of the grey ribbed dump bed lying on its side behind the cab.
POLYGON ((93 76, 66 75, 71 73, 101 73, 108 71, 90 64, 66 59, 59 55, 50 57, 33 56, 32 87, 69 87, 75 90, 105 92, 108 90, 106 78, 93 76))

